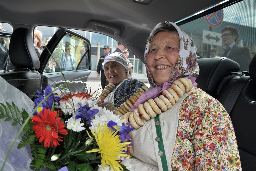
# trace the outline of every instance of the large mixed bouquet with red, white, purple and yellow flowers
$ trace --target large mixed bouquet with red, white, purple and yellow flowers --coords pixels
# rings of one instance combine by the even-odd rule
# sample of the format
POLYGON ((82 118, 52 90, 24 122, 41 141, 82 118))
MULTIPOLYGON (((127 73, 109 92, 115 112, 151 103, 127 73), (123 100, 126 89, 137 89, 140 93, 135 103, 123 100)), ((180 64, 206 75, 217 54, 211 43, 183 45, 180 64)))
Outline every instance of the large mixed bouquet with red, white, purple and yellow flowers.
POLYGON ((37 91, 31 116, 14 103, 1 103, 0 118, 13 120, 13 126, 27 123, 18 148, 30 145, 31 169, 131 171, 128 133, 133 127, 91 97, 69 86, 47 86, 37 91))

